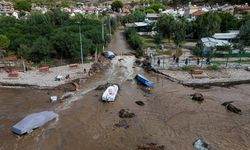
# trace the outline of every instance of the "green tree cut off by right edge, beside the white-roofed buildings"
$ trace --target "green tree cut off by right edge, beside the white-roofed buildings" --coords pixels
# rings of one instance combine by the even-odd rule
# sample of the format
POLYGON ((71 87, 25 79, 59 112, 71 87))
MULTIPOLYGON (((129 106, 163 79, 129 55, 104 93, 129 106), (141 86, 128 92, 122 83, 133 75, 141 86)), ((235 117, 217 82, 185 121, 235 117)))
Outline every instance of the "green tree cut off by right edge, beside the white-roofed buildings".
POLYGON ((240 27, 240 41, 245 46, 250 46, 250 20, 240 27))

